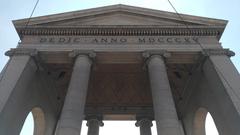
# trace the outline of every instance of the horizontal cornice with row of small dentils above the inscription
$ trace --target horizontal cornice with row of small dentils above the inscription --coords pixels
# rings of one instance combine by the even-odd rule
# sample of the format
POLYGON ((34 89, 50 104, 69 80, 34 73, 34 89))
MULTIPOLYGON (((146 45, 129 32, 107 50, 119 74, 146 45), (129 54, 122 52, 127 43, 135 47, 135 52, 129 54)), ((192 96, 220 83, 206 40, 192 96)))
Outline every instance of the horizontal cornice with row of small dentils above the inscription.
POLYGON ((24 35, 66 35, 66 36, 216 36, 220 38, 221 26, 30 26, 18 27, 18 33, 24 35))

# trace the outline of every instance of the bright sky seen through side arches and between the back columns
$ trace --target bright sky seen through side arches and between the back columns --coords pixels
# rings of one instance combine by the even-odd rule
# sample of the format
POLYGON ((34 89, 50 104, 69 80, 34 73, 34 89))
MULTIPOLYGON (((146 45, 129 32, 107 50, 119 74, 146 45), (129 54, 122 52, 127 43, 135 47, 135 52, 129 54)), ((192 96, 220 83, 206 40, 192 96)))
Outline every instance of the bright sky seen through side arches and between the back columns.
MULTIPOLYGON (((218 135, 217 129, 211 115, 207 115, 206 135, 218 135)), ((156 123, 153 121, 152 135, 157 135, 156 123)), ((20 135, 33 135, 33 117, 28 115, 20 135)), ((87 135, 86 121, 82 123, 81 135, 87 135)), ((140 135, 139 128, 135 127, 135 121, 104 121, 100 127, 99 135, 140 135)))

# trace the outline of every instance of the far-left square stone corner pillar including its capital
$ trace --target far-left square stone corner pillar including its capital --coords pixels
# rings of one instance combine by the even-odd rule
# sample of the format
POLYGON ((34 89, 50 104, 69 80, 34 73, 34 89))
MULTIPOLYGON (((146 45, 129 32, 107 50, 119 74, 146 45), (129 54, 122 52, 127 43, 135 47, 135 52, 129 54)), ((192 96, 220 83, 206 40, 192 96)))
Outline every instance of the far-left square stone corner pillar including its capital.
MULTIPOLYGON (((35 49, 11 49, 10 60, 0 78, 0 134, 19 134, 23 124, 22 104, 37 71, 35 49), (18 117, 16 117, 18 113, 18 117), (14 125, 12 125, 14 123, 14 125)), ((26 104, 25 104, 26 105, 26 104)))

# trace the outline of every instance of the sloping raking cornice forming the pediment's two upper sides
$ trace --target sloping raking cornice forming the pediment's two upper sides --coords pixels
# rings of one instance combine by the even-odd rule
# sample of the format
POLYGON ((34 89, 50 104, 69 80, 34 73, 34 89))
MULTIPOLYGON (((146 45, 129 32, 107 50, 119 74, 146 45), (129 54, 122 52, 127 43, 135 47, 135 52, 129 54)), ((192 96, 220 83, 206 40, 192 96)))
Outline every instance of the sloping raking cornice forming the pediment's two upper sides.
MULTIPOLYGON (((76 18, 81 18, 81 19, 86 19, 87 17, 95 18, 99 15, 106 16, 112 13, 132 14, 132 15, 135 14, 135 15, 141 15, 144 18, 154 17, 156 19, 164 19, 168 21, 176 21, 176 22, 182 22, 183 24, 192 24, 192 25, 195 24, 195 25, 208 25, 208 26, 209 25, 225 26, 227 23, 226 20, 180 14, 183 19, 182 20, 181 18, 179 18, 179 16, 176 13, 118 4, 118 5, 80 10, 80 11, 54 14, 54 15, 33 17, 31 18, 29 25, 51 24, 53 22, 74 20, 76 18)), ((27 22, 28 22, 28 18, 13 21, 15 27, 25 25, 27 22)))

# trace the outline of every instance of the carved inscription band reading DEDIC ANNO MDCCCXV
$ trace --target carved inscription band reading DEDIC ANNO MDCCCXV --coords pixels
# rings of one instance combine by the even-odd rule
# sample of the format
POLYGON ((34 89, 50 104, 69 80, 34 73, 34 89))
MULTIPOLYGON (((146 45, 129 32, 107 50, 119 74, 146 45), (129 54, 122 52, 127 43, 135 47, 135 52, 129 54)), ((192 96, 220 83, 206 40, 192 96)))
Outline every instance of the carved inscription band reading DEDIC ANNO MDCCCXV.
POLYGON ((39 37, 40 44, 197 44, 197 37, 39 37))

